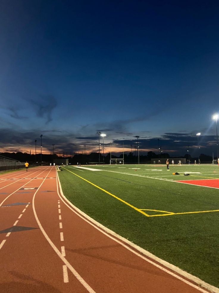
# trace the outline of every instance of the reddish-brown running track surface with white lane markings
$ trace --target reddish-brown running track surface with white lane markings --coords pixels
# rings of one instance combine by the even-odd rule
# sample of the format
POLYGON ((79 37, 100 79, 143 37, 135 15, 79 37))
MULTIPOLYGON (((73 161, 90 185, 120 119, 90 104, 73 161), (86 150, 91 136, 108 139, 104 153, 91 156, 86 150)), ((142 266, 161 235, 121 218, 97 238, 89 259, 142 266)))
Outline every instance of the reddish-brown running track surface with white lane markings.
POLYGON ((56 177, 54 167, 0 176, 1 293, 208 292, 91 225, 62 199, 56 177))

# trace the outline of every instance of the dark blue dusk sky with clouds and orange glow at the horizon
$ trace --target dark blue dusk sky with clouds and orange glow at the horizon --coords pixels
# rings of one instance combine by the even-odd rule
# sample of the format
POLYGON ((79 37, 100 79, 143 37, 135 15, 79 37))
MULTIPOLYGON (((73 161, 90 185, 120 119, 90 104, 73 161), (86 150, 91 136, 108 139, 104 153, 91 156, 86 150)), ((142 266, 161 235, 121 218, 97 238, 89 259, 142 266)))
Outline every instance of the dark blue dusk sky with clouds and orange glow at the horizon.
POLYGON ((0 151, 90 153, 100 131, 104 153, 216 156, 218 9, 0 0, 0 151))

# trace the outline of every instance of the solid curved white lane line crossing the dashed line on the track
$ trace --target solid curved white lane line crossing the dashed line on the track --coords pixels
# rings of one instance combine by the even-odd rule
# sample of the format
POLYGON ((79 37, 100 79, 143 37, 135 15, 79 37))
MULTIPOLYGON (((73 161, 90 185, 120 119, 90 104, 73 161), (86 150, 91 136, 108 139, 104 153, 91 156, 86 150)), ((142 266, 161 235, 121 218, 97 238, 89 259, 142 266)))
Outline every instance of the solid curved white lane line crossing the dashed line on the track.
MULTIPOLYGON (((57 171, 56 171, 57 172, 57 171)), ((57 173, 56 173, 57 174, 57 173)), ((46 178, 45 178, 46 179, 46 178)), ((43 182, 45 181, 45 179, 43 180, 43 182)), ((40 186, 38 187, 38 189, 41 187, 41 185, 43 184, 43 182, 40 184, 40 186)), ((56 179, 57 182, 57 179, 56 179)), ((38 190, 37 189, 37 190, 38 190)), ((79 273, 73 268, 73 266, 68 262, 68 260, 66 260, 66 258, 61 254, 61 252, 58 250, 58 248, 54 245, 54 243, 51 241, 51 239, 49 238, 49 236, 46 234, 46 231, 43 229, 43 226, 40 223, 40 220, 37 217, 37 213, 36 213, 36 209, 35 209, 35 196, 37 193, 37 190, 33 196, 32 199, 32 207, 33 207, 33 213, 35 216, 35 219, 37 221, 37 224, 41 230, 41 232, 43 233, 43 236, 46 238, 46 240, 49 242, 49 244, 51 245, 51 247, 54 249, 54 251, 57 253, 57 255, 60 257, 60 259, 63 261, 63 263, 66 264, 66 266, 68 267, 68 269, 72 272, 72 274, 77 278, 77 280, 79 280, 79 282, 87 289, 87 291, 89 293, 96 293, 86 282, 85 280, 79 275, 79 273)))

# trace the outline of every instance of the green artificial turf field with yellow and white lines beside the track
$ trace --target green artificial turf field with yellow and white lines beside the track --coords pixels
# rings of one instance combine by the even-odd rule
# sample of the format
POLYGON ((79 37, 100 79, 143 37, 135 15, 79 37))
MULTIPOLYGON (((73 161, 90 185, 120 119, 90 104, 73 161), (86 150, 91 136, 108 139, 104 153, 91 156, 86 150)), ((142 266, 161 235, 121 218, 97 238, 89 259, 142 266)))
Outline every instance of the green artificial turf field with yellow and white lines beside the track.
POLYGON ((74 205, 157 257, 219 286, 218 165, 170 165, 170 171, 166 165, 81 167, 89 169, 66 166, 58 172, 74 205))

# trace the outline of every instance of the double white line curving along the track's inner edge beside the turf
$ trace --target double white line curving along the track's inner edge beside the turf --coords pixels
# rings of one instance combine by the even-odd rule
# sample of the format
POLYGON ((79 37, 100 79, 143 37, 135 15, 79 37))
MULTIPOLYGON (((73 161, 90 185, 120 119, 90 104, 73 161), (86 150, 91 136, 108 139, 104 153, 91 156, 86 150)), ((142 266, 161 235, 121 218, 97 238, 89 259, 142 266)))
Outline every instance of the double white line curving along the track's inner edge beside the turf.
MULTIPOLYGON (((110 172, 110 171, 108 171, 110 172)), ((117 173, 117 172, 115 172, 117 173)), ((136 175, 135 175, 136 176, 136 175)), ((109 237, 110 239, 114 240, 115 242, 121 244, 123 247, 127 248, 129 251, 133 252, 134 254, 136 254, 137 256, 141 257, 142 259, 146 260, 148 263, 153 264, 154 266, 158 267, 159 269, 161 269, 162 271, 165 271, 166 273, 172 275, 173 277, 176 277, 177 279, 181 280, 182 282, 190 285, 191 287, 203 292, 203 293, 208 293, 206 290, 207 289, 213 293, 219 293, 219 289, 216 288, 215 286, 212 286, 206 282, 204 282, 203 280, 199 279, 198 277, 193 276, 192 274, 187 273, 186 271, 183 271, 182 269, 178 268, 177 266, 174 266, 171 263, 168 263, 165 260, 162 260, 161 258, 157 257, 156 255, 152 254, 151 252, 141 248, 140 246, 137 246, 136 244, 130 242, 129 240, 127 240, 126 238, 123 238, 122 236, 116 234, 115 232, 113 232, 112 230, 108 229, 107 227, 105 227, 104 225, 98 223, 97 221, 95 221, 94 219, 92 219, 91 217, 89 217, 87 214, 85 214, 84 212, 82 212, 81 210, 79 210, 79 208, 77 208, 76 206, 74 206, 63 194, 62 192, 62 187, 60 184, 60 180, 57 174, 57 192, 58 195, 60 197, 60 199, 62 200, 62 202, 68 206, 69 209, 71 209, 75 214, 77 214, 79 217, 81 217, 83 220, 85 220, 87 223, 89 223, 90 225, 92 225, 94 228, 96 228, 97 230, 99 230, 101 233, 103 233, 104 235, 106 235, 107 237, 109 237), (59 190, 58 190, 58 183, 59 183, 59 188, 60 188, 60 193, 62 196, 60 196, 59 190), (65 199, 65 200, 64 200, 65 199), (74 210, 71 208, 71 205, 74 210), (77 212, 76 212, 77 211, 77 212), (92 222, 92 223, 91 223, 92 222), (104 231, 103 231, 104 230, 104 231), (175 271, 177 274, 182 275, 183 277, 193 281, 194 283, 198 284, 195 285, 193 283, 191 283, 190 281, 185 280, 184 278, 178 276, 177 274, 169 271, 168 269, 165 269, 164 267, 158 265, 157 263, 154 263, 153 261, 151 261, 150 259, 142 256, 141 254, 139 254, 138 252, 134 251, 132 248, 129 248, 128 246, 126 246, 124 243, 120 242, 118 239, 115 239, 114 237, 112 237, 111 235, 113 235, 114 237, 118 238, 119 240, 122 240, 123 242, 127 243, 129 246, 132 246, 133 248, 135 248, 136 250, 138 250, 139 252, 141 252, 142 254, 145 254, 147 257, 150 257, 151 259, 161 263, 163 266, 167 267, 168 269, 171 269, 172 271, 175 271), (204 289, 202 289, 201 287, 204 287, 204 289)), ((162 180, 162 179, 161 179, 162 180)))

